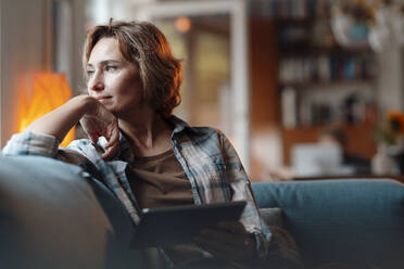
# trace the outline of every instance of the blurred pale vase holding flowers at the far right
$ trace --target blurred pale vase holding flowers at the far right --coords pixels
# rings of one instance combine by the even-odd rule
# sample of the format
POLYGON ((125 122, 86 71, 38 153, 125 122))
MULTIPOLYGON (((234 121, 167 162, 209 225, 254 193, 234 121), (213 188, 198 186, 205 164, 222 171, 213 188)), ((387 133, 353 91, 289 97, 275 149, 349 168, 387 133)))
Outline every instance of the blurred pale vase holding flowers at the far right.
POLYGON ((375 175, 391 175, 394 171, 394 159, 389 155, 389 146, 386 143, 380 143, 377 146, 377 152, 371 158, 371 172, 375 175))

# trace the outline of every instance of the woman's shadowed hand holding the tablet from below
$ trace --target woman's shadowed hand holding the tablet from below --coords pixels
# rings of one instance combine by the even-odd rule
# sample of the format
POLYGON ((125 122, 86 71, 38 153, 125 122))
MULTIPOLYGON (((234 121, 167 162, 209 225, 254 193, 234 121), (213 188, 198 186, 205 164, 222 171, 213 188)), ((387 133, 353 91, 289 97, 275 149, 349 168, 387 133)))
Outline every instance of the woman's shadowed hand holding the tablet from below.
POLYGON ((202 230, 194 243, 217 258, 247 261, 255 256, 255 242, 240 221, 223 221, 202 230))

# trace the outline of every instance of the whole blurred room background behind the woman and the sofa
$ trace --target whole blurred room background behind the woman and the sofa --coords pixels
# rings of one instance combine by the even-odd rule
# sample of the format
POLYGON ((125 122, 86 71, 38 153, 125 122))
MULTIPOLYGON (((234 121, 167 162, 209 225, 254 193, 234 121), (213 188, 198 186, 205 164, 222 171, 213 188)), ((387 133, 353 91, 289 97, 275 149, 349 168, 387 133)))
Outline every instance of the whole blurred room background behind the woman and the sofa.
POLYGON ((251 180, 404 172, 399 0, 0 0, 1 146, 86 90, 85 35, 110 17, 162 29, 175 114, 222 129, 251 180))

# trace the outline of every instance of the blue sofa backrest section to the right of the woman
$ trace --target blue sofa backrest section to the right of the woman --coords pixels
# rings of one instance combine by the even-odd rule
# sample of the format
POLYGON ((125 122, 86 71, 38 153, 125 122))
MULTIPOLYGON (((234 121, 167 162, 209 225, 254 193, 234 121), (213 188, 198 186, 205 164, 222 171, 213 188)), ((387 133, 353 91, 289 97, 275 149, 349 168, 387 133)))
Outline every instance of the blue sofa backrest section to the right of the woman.
POLYGON ((279 207, 304 261, 404 265, 404 185, 393 180, 253 183, 258 207, 279 207))

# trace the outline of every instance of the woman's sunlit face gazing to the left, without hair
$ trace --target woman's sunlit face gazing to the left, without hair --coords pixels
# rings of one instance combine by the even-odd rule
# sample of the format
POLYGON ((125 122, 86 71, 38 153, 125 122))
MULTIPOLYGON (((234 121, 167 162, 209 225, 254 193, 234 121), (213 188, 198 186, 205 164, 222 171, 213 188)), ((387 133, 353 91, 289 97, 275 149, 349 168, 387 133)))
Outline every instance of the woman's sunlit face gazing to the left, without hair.
POLYGON ((115 116, 130 115, 142 101, 139 69, 122 55, 115 38, 102 38, 87 63, 88 93, 115 116))

